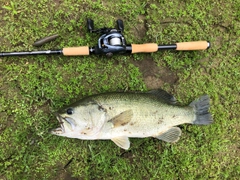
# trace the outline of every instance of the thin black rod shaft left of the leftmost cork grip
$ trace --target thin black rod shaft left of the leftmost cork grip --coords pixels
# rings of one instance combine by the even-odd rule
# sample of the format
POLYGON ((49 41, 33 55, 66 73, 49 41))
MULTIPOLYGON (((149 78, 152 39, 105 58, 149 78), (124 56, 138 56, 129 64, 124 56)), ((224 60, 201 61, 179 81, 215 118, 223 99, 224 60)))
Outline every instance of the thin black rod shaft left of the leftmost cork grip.
POLYGON ((0 57, 5 57, 5 56, 25 56, 25 55, 52 55, 52 54, 62 54, 62 50, 0 52, 0 57))

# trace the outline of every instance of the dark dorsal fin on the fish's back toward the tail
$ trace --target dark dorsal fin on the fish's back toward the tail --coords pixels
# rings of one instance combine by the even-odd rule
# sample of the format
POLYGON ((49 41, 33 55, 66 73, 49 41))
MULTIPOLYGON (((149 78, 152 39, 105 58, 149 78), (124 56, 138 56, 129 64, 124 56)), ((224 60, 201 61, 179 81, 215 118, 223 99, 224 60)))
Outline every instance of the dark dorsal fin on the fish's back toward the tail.
POLYGON ((173 95, 169 94, 168 92, 164 91, 163 89, 155 89, 155 90, 151 90, 147 93, 154 95, 160 101, 164 101, 168 104, 176 104, 177 103, 176 98, 173 95))

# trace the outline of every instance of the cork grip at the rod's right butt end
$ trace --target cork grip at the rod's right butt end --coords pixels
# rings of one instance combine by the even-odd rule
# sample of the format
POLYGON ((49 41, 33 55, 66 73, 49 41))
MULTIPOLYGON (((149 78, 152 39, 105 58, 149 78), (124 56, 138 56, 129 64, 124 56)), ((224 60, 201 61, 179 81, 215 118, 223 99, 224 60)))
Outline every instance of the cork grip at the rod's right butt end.
POLYGON ((205 50, 209 48, 210 43, 207 41, 193 41, 193 42, 181 42, 176 43, 176 50, 184 51, 184 50, 205 50))

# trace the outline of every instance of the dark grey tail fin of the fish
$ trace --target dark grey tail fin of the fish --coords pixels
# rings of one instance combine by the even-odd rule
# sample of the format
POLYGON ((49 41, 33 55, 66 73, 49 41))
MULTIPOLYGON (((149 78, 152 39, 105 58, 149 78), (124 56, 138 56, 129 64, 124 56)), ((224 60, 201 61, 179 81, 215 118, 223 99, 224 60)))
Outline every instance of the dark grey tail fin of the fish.
POLYGON ((213 122, 212 115, 209 113, 210 99, 208 95, 201 96, 198 100, 190 103, 191 107, 194 108, 196 113, 196 119, 193 124, 207 125, 213 122))

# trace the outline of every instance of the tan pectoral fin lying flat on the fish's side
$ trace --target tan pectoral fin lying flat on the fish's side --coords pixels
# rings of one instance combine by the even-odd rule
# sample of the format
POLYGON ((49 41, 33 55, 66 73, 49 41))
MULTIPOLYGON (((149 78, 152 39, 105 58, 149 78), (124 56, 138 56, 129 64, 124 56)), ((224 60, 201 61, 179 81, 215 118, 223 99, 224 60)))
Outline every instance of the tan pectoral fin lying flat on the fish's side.
POLYGON ((111 122, 114 127, 124 126, 131 121, 132 117, 133 111, 130 109, 120 113, 119 115, 115 116, 108 122, 111 122))

